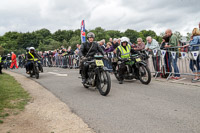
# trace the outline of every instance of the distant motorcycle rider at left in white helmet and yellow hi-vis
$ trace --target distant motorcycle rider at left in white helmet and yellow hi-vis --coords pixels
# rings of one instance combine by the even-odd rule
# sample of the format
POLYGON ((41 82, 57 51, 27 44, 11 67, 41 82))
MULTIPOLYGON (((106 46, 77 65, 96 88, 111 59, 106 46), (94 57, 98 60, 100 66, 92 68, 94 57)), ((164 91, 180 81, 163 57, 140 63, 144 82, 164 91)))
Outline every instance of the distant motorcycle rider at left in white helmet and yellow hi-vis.
POLYGON ((27 52, 27 56, 26 56, 26 73, 29 74, 30 70, 32 69, 32 61, 34 59, 39 59, 39 56, 35 53, 35 48, 34 47, 30 47, 29 48, 29 52, 27 52))

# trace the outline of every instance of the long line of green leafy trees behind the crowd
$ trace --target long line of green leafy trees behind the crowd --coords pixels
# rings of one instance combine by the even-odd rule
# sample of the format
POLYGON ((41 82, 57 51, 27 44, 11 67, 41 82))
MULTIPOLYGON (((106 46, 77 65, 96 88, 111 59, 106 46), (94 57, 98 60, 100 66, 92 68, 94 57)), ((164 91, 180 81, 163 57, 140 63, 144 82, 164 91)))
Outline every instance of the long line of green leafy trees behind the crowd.
MULTIPOLYGON (((152 30, 142 30, 140 32, 132 29, 127 29, 125 32, 118 30, 108 30, 101 27, 97 27, 93 30, 87 31, 95 33, 95 40, 100 41, 105 39, 106 42, 109 38, 121 38, 127 36, 132 43, 136 43, 137 38, 141 37, 143 41, 146 41, 147 36, 152 36, 158 42, 162 41, 162 35, 157 36, 152 30)), ((179 34, 178 34, 179 35, 179 34)), ((60 46, 76 48, 76 44, 81 43, 80 29, 77 30, 57 30, 53 34, 48 29, 40 29, 33 32, 18 33, 18 32, 6 32, 3 36, 0 36, 0 46, 4 49, 4 54, 14 51, 16 54, 20 54, 25 51, 27 47, 35 47, 39 51, 54 50, 60 46)))

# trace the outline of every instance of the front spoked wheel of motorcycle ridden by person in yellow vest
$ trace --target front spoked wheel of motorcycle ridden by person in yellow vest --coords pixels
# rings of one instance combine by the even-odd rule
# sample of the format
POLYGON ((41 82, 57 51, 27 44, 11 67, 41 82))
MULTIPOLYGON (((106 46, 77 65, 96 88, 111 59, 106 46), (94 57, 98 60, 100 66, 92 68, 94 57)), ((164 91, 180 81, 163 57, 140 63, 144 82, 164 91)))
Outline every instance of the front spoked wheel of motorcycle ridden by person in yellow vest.
POLYGON ((139 79, 142 84, 149 84, 151 82, 151 72, 147 66, 139 66, 139 79))

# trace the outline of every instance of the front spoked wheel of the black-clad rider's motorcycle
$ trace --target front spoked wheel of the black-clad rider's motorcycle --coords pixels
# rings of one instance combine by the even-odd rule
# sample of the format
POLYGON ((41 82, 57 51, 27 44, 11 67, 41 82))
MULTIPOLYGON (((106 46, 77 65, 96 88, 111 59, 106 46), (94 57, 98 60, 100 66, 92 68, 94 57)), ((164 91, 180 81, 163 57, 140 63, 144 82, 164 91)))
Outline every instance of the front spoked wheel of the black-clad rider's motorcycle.
POLYGON ((97 89, 99 90, 100 94, 103 96, 108 95, 111 88, 111 79, 110 75, 107 71, 100 71, 100 75, 97 77, 97 89))

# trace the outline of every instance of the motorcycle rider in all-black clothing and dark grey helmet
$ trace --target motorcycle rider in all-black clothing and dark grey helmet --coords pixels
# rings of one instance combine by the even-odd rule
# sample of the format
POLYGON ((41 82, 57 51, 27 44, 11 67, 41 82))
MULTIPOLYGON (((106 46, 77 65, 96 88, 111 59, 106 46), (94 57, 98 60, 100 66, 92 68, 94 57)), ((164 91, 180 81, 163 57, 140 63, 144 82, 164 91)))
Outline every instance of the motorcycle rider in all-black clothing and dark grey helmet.
POLYGON ((87 82, 87 72, 89 64, 86 63, 88 60, 87 57, 94 57, 95 54, 98 52, 101 53, 103 56, 105 55, 104 51, 101 49, 101 47, 98 45, 97 42, 94 41, 95 34, 92 32, 89 32, 87 34, 87 42, 82 43, 80 48, 80 72, 82 73, 82 83, 85 84, 87 82))

